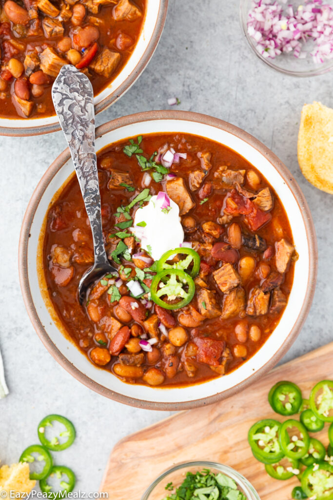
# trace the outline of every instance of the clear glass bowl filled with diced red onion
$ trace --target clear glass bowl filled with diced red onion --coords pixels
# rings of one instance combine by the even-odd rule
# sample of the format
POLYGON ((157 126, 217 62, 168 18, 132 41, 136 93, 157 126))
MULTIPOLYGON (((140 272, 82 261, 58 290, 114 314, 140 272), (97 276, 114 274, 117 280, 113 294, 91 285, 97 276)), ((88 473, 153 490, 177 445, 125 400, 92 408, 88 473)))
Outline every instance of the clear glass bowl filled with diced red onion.
POLYGON ((241 0, 241 24, 254 53, 294 76, 333 69, 333 0, 241 0))

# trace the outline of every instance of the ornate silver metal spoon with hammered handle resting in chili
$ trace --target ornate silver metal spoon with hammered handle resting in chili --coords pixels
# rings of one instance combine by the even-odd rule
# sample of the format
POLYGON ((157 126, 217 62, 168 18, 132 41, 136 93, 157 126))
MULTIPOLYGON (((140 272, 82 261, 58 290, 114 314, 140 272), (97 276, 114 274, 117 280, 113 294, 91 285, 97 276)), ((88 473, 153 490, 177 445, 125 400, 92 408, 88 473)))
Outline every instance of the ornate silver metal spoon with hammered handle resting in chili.
POLYGON ((117 271, 108 261, 103 242, 93 90, 88 77, 72 65, 62 66, 53 83, 52 100, 73 159, 94 245, 94 265, 83 274, 78 285, 82 305, 94 281, 117 271))

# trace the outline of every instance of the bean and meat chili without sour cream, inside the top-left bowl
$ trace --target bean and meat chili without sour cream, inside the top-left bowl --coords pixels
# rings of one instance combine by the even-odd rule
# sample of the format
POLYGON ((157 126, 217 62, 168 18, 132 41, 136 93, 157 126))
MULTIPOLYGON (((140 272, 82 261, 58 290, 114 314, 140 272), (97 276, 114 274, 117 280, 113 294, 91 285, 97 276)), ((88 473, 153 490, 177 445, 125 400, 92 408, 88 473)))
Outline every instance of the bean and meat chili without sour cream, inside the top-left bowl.
POLYGON ((146 0, 0 0, 0 117, 53 115, 51 86, 64 64, 101 92, 131 55, 145 8, 146 0))

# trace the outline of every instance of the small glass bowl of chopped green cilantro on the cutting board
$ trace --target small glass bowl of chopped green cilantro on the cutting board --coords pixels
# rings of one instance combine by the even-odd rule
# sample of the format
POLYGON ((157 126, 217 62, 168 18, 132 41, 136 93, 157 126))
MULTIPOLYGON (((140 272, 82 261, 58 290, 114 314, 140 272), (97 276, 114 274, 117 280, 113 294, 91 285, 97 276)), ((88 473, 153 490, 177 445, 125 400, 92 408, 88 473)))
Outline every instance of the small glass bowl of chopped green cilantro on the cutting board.
POLYGON ((260 500, 237 470, 210 461, 179 463, 163 472, 141 500, 260 500))

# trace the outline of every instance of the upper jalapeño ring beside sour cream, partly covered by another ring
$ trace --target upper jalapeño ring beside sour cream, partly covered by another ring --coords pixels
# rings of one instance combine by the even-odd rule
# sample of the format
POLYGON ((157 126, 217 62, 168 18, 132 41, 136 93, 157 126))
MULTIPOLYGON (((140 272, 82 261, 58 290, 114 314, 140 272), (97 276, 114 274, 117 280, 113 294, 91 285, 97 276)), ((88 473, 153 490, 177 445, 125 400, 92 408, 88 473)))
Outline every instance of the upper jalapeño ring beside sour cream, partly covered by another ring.
POLYGON ((200 269, 200 256, 192 248, 175 248, 174 250, 168 250, 157 262, 156 272, 159 273, 164 269, 180 269, 187 272, 192 278, 194 278, 200 269), (185 258, 179 258, 179 256, 185 255, 185 258), (176 261, 174 261, 176 259, 176 261), (171 263, 168 263, 171 261, 171 263))

